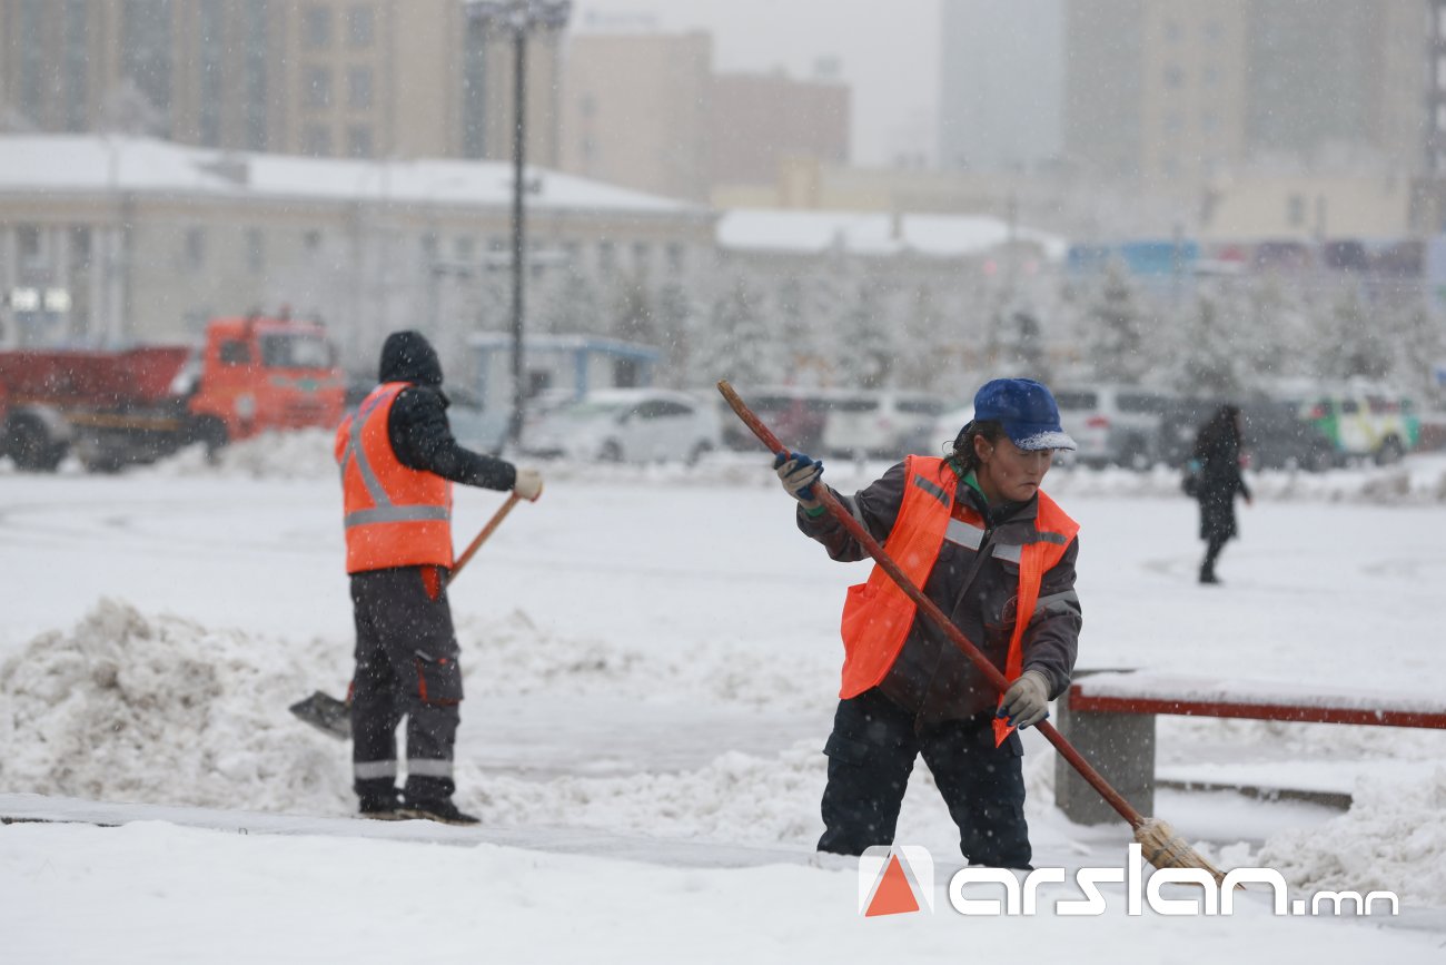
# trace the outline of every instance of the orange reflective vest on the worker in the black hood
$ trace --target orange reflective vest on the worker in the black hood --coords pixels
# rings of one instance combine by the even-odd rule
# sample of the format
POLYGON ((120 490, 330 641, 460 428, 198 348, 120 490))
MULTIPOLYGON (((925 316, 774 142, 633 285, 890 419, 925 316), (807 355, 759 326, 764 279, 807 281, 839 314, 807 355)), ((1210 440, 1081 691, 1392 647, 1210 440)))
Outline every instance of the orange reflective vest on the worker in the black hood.
POLYGON ((403 466, 388 435, 392 404, 406 388, 409 382, 376 386, 337 427, 347 573, 453 564, 451 483, 403 466))

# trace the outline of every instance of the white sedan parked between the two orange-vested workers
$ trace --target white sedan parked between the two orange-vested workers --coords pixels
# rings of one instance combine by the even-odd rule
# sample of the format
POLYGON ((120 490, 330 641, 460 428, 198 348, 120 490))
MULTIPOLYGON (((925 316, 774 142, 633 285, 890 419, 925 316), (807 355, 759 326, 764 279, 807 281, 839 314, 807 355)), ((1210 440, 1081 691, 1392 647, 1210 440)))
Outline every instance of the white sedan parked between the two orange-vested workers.
POLYGON ((668 389, 606 389, 558 407, 522 437, 522 451, 602 462, 696 463, 722 446, 717 409, 668 389))

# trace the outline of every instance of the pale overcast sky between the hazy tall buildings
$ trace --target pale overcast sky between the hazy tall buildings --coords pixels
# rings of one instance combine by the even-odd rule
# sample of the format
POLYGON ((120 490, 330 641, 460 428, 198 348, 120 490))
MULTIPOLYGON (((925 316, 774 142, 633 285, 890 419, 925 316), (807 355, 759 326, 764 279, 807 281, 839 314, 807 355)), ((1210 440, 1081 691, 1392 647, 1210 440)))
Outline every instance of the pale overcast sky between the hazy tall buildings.
POLYGON ((853 161, 882 165, 901 153, 934 156, 940 1, 576 0, 573 26, 636 17, 639 29, 704 29, 720 71, 781 67, 805 78, 831 58, 853 88, 853 161))

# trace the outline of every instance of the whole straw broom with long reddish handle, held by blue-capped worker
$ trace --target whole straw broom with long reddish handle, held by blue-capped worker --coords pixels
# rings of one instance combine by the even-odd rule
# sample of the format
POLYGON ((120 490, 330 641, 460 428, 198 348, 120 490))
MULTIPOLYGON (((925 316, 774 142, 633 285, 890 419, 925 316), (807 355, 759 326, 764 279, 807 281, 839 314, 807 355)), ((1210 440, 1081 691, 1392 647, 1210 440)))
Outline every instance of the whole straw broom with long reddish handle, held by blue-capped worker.
MULTIPOLYGON (((739 398, 732 385, 726 381, 719 382, 719 392, 723 394, 723 398, 727 399, 733 412, 743 420, 743 424, 753 431, 753 435, 756 435, 763 446, 766 446, 775 456, 788 457, 788 449, 779 443, 778 437, 774 435, 774 433, 763 425, 762 420, 759 420, 758 415, 748 408, 748 404, 739 398)), ((979 673, 985 676, 995 690, 1004 693, 1009 687, 1009 681, 1005 680, 1002 673, 999 673, 999 668, 989 663, 989 658, 985 657, 967 637, 964 637, 963 631, 954 626, 953 621, 944 615, 944 611, 938 609, 934 600, 924 596, 924 592, 914 586, 908 576, 904 574, 904 570, 901 570, 884 547, 879 545, 878 540, 875 540, 869 531, 863 528, 863 524, 855 519, 853 514, 843 508, 839 498, 834 496, 827 486, 816 486, 814 492, 833 518, 849 531, 849 535, 857 540, 859 545, 862 545, 865 551, 873 557, 875 563, 878 563, 879 567, 889 574, 889 579, 892 579, 898 587, 904 590, 905 596, 914 600, 918 606, 918 612, 933 621, 944 632, 944 635, 947 635, 949 639, 953 641, 953 644, 959 647, 966 657, 969 657, 975 667, 979 668, 979 673)), ((1145 861, 1157 868, 1202 868, 1215 877, 1216 884, 1220 884, 1225 880, 1225 874, 1197 854, 1189 843, 1186 843, 1186 841, 1180 838, 1170 825, 1158 817, 1144 817, 1139 812, 1137 812, 1129 802, 1126 802, 1119 791, 1111 787, 1103 775, 1100 775, 1100 773, 1096 771, 1095 767, 1074 749, 1074 747, 1054 728, 1053 723, 1041 720, 1034 726, 1050 744, 1054 745, 1054 749, 1058 751, 1060 755, 1063 755, 1064 760, 1080 773, 1080 777, 1089 781, 1090 787, 1099 791, 1100 797, 1103 797, 1121 817, 1129 822, 1129 826, 1135 830, 1135 841, 1139 842, 1145 861)))

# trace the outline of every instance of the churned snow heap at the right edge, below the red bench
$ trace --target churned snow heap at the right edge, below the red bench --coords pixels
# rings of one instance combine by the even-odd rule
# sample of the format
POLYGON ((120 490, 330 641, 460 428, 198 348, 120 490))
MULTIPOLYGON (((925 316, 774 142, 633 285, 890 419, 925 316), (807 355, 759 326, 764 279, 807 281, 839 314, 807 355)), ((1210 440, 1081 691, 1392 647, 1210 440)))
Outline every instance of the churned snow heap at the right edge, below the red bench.
POLYGON ((1362 783, 1346 815, 1275 835, 1259 861, 1299 888, 1387 890, 1403 903, 1446 904, 1446 767, 1414 781, 1362 783))

